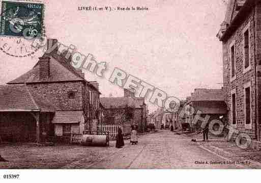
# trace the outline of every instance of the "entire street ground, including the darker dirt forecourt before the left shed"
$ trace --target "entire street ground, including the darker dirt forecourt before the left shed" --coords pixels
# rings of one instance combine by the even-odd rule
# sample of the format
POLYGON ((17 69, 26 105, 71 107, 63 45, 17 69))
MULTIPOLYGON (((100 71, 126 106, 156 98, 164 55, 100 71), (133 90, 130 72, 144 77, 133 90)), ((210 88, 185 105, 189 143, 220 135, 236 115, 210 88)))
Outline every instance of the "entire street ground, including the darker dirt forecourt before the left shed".
POLYGON ((117 149, 114 145, 115 141, 110 142, 110 147, 2 145, 0 152, 10 162, 2 162, 0 168, 243 168, 235 164, 211 164, 228 159, 224 160, 201 148, 199 143, 191 142, 191 138, 170 130, 139 135, 137 145, 131 145, 129 140, 125 140, 123 148, 117 149))

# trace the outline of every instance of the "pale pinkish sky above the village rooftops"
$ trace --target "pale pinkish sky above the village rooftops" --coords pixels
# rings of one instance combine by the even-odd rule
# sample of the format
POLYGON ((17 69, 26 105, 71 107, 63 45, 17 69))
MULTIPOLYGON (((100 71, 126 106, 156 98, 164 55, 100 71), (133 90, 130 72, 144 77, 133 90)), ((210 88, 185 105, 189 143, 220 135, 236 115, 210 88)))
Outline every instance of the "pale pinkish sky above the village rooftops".
MULTIPOLYGON (((80 53, 92 54, 97 62, 106 62, 107 74, 114 67, 121 68, 180 99, 190 96, 195 88, 222 86, 222 50, 216 34, 225 16, 223 0, 44 3, 46 35, 77 46, 80 53), (78 11, 81 6, 140 6, 149 10, 78 11)), ((33 57, 14 58, 0 52, 0 84, 30 70, 42 54, 38 51, 33 57)), ((99 82, 102 97, 123 96, 123 90, 106 79, 88 71, 85 79, 99 82)), ((149 104, 149 109, 156 107, 149 104)))

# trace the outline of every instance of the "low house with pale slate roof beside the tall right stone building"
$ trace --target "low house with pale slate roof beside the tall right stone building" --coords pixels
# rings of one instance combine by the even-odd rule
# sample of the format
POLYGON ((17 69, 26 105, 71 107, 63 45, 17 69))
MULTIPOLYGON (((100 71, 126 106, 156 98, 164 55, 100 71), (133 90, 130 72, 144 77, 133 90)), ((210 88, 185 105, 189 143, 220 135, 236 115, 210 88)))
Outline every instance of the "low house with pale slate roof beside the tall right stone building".
MULTIPOLYGON (((227 106, 224 101, 224 91, 223 89, 195 89, 191 94, 191 101, 189 105, 193 108, 191 110, 193 120, 195 115, 199 114, 200 117, 205 118, 206 115, 209 115, 209 122, 212 120, 221 120, 226 122, 227 119, 227 106)), ((192 128, 200 128, 202 121, 193 124, 192 128)), ((189 122, 191 124, 191 122, 189 122)))

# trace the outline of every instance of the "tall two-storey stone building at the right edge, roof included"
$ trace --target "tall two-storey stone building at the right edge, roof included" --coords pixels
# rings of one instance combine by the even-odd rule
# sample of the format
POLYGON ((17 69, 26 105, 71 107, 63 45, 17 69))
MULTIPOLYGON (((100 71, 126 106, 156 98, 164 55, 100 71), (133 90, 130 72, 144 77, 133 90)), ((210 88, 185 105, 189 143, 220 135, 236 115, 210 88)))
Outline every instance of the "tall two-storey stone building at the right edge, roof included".
POLYGON ((223 49, 228 124, 260 139, 261 1, 230 0, 217 37, 223 49))

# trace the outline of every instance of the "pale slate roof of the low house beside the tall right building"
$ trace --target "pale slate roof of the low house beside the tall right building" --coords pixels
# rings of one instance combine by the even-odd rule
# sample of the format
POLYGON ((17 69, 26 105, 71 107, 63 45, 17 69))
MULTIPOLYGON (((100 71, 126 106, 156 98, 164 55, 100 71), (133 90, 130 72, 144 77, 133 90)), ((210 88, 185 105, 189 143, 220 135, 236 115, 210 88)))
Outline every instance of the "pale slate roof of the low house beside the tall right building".
POLYGON ((195 89, 191 94, 191 101, 224 101, 225 93, 222 89, 195 89))

